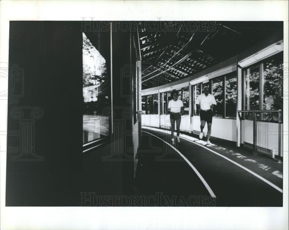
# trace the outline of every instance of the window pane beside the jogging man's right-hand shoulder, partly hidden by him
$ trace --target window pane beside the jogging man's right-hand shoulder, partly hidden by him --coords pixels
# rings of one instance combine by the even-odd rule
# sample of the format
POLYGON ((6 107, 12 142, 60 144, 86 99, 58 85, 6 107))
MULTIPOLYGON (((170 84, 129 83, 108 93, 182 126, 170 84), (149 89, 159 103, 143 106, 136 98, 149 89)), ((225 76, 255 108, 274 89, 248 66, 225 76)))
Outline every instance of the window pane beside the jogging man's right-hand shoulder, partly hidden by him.
POLYGON ((214 117, 223 117, 223 77, 214 78, 213 83, 213 95, 216 99, 217 106, 214 108, 214 117))

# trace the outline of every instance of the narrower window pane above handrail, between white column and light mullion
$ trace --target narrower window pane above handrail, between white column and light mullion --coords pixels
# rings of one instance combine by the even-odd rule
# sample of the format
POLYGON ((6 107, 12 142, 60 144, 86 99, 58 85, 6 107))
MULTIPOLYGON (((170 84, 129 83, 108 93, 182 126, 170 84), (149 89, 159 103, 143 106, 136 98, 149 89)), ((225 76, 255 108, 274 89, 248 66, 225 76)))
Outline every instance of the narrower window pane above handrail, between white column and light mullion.
POLYGON ((259 109, 259 64, 247 69, 245 109, 259 109))

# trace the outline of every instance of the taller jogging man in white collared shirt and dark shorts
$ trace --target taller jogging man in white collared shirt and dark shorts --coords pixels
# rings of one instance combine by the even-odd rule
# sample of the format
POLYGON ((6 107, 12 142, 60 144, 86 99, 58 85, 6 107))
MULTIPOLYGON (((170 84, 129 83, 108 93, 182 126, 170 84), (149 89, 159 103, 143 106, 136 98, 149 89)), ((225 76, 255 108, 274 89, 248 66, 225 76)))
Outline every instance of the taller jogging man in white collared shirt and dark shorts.
POLYGON ((203 138, 203 129, 207 122, 208 125, 208 135, 207 135, 207 144, 211 145, 210 136, 211 136, 211 127, 212 127, 212 108, 217 105, 215 97, 209 93, 209 87, 204 87, 204 93, 199 95, 196 101, 197 110, 200 112, 201 119, 201 132, 200 139, 203 138))

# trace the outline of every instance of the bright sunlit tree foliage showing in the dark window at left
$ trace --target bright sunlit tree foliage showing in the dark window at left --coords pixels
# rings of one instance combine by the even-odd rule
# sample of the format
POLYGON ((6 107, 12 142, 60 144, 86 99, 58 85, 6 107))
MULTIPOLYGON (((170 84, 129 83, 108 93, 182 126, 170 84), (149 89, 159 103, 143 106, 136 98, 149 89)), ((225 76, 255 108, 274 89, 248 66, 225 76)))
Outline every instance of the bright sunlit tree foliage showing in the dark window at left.
POLYGON ((83 87, 101 85, 106 79, 105 59, 83 33, 83 87))

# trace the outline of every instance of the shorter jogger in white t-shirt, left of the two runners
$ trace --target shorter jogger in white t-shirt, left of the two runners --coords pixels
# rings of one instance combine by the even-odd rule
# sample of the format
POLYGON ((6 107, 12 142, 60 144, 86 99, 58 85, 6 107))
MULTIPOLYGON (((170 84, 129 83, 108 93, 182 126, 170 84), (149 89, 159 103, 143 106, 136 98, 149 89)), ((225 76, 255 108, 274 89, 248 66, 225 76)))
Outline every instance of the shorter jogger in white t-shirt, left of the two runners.
POLYGON ((173 100, 168 103, 168 112, 170 114, 171 121, 171 138, 172 143, 175 144, 174 132, 175 132, 175 122, 177 122, 177 140, 180 142, 180 124, 181 124, 181 115, 182 110, 184 109, 184 104, 181 100, 178 99, 179 94, 177 91, 173 91, 173 100))

